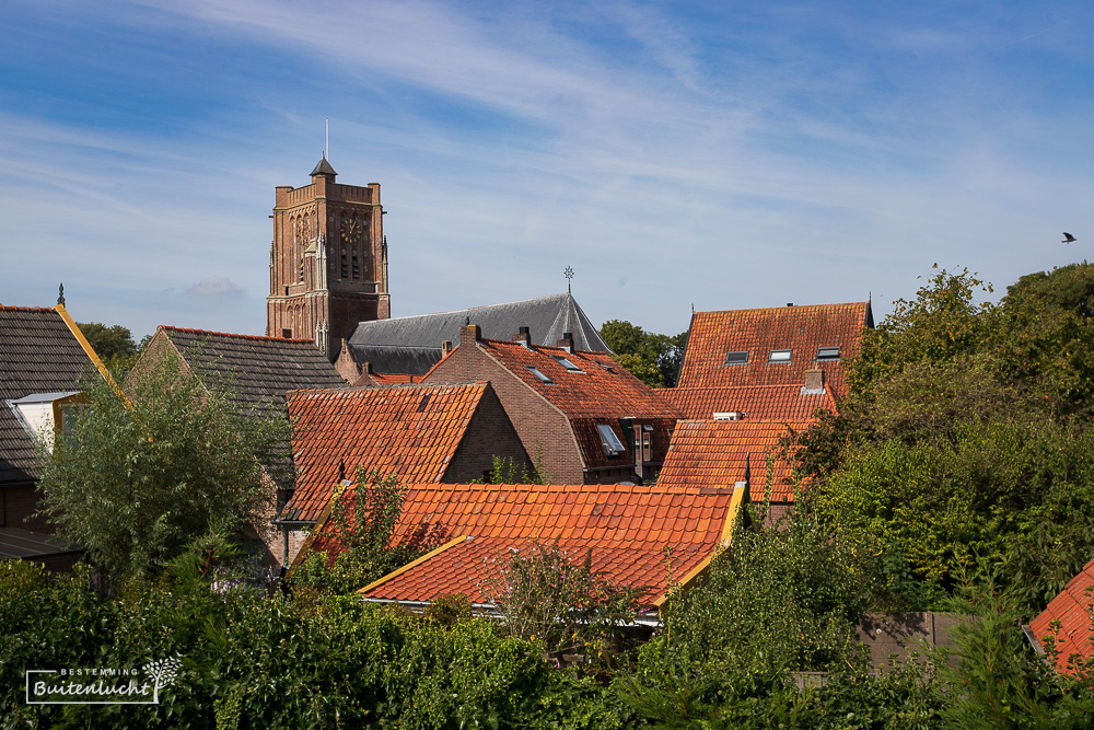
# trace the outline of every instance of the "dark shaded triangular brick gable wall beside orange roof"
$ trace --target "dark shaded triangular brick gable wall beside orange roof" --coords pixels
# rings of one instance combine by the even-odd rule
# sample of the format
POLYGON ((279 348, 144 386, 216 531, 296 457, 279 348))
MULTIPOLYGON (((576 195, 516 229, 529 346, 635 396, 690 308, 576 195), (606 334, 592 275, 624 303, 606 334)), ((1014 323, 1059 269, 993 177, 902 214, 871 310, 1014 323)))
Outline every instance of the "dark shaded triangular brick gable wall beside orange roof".
POLYGON ((533 468, 532 460, 528 459, 513 422, 505 414, 497 393, 488 386, 441 480, 467 484, 473 479, 481 479, 492 468, 494 456, 511 459, 517 470, 523 466, 531 472, 533 468))

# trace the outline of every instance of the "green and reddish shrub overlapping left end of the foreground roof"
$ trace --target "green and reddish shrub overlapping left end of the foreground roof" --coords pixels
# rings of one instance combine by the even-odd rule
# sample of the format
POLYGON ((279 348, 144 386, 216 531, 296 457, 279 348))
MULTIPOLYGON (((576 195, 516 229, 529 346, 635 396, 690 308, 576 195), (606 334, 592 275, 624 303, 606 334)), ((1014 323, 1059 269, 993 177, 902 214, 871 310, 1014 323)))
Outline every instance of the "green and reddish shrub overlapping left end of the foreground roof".
POLYGON ((330 517, 324 526, 342 549, 333 558, 325 552, 304 556, 292 571, 294 586, 352 593, 442 542, 442 534, 427 531, 392 544, 406 488, 394 474, 385 477, 362 467, 357 477, 356 489, 335 495, 330 517))

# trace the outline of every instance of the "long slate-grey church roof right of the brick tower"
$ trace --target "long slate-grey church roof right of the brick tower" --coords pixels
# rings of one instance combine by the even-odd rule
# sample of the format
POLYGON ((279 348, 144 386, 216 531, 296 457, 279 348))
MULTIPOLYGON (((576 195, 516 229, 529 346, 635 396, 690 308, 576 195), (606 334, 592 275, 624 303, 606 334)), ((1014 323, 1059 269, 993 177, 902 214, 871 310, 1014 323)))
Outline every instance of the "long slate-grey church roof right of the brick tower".
POLYGON ((563 333, 573 333, 579 350, 608 352, 596 327, 569 293, 520 302, 473 306, 455 312, 359 322, 349 337, 358 362, 371 362, 376 372, 424 375, 441 360, 441 343, 459 343, 459 328, 468 320, 489 339, 511 339, 528 327, 534 345, 554 347, 563 333))

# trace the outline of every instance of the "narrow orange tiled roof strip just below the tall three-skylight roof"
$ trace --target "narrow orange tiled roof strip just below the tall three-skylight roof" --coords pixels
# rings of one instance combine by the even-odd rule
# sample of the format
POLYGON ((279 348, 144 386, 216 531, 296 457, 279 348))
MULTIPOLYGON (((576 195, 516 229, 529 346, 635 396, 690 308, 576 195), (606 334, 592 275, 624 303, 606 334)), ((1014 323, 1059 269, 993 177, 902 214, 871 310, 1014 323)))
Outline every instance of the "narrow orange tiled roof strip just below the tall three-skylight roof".
POLYGON ((738 410, 748 418, 802 424, 814 420, 817 408, 836 410, 837 405, 831 389, 825 389, 824 393, 804 393, 799 384, 662 387, 657 393, 676 406, 684 418, 690 419, 738 410))

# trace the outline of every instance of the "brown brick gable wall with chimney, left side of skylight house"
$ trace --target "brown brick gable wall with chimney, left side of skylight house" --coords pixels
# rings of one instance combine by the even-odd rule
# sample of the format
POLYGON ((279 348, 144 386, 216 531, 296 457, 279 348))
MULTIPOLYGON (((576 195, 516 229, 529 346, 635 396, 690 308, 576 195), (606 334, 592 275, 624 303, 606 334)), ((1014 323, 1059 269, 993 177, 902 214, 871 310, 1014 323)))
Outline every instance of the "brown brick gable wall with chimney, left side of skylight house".
MULTIPOLYGON (((547 403, 538 393, 475 346, 464 327, 461 344, 422 381, 426 383, 465 383, 489 381, 509 419, 521 437, 525 451, 533 460, 542 451, 544 471, 554 484, 583 484, 584 464, 573 438, 569 419, 547 403)), ((438 343, 440 345, 440 343, 438 343)))

